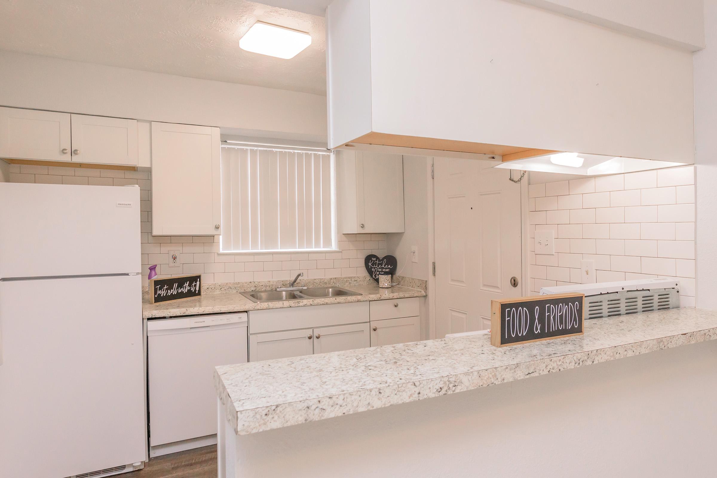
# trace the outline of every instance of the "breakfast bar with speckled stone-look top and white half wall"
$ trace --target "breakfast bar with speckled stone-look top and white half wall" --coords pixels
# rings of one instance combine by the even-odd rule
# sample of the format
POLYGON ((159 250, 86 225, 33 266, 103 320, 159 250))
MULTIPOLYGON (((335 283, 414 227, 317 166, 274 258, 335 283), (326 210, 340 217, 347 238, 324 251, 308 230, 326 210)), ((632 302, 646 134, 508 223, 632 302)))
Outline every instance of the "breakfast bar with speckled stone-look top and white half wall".
MULTIPOLYGON (((490 345, 489 335, 468 335, 217 367, 220 476, 331 476, 336 457, 325 457, 321 472, 277 458, 290 443, 292 453, 302 451, 309 460, 326 453, 322 446, 348 462, 360 462, 361 454, 374 449, 382 461, 375 469, 384 471, 395 462, 387 450, 403 464, 411 457, 415 467, 397 468, 391 476, 434 476, 431 469, 475 476, 468 464, 478 459, 484 472, 501 476, 501 466, 516 466, 508 463, 514 446, 522 450, 517 462, 529 457, 546 465, 550 457, 536 454, 546 446, 541 433, 551 435, 553 446, 575 449, 561 457, 566 474, 554 476, 581 472, 575 453, 587 449, 617 455, 620 473, 633 466, 652 469, 640 468, 642 459, 628 459, 619 449, 635 427, 648 443, 655 438, 645 436, 680 436, 663 446, 650 444, 650 455, 662 462, 652 476, 662 476, 671 459, 660 449, 708 452, 717 439, 715 338, 717 312, 683 308, 587 320, 584 335, 504 348, 490 345), (593 364, 598 365, 585 367, 593 364), (363 411, 368 413, 358 414, 363 411), (421 414, 420 425, 415 414, 421 414), (332 417, 341 418, 325 420, 332 417), (561 426, 554 429, 553 421, 561 426), (586 421, 594 428, 589 436, 586 421), (650 429, 655 423, 659 430, 650 429), (436 434, 442 442, 425 449, 436 434), (375 449, 379 444, 386 448, 375 449)), ((631 446, 642 449, 645 443, 631 446)), ((340 469, 335 464, 334 472, 340 469)), ((699 459, 690 466, 701 470, 699 459)), ((342 467, 343 476, 374 470, 365 463, 356 473, 346 472, 345 462, 342 467)))

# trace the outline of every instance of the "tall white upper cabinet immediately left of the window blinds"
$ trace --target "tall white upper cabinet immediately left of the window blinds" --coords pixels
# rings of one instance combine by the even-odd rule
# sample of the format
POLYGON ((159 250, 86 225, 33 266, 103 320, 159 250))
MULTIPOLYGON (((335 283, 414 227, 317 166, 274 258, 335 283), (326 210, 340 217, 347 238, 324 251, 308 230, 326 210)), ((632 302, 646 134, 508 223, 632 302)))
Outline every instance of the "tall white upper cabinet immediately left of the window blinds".
POLYGON ((152 123, 152 234, 221 233, 219 128, 152 123))

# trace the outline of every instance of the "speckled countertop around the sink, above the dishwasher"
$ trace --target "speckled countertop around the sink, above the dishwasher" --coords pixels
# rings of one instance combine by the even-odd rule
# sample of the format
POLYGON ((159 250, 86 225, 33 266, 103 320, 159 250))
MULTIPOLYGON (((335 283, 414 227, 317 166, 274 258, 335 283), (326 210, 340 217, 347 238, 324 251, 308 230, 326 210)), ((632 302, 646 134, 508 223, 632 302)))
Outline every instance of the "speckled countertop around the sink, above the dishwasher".
MULTIPOLYGON (((420 282, 420 281, 419 281, 420 282)), ((312 299, 280 300, 277 302, 252 302, 239 292, 243 290, 271 290, 276 287, 274 283, 246 283, 246 289, 241 285, 229 285, 222 292, 202 293, 199 297, 176 300, 174 302, 149 303, 148 296, 142 300, 142 317, 146 319, 156 317, 177 317, 181 315, 216 314, 220 312, 242 312, 247 310, 280 309, 283 307, 304 307, 306 305, 339 304, 343 302, 364 302, 366 300, 402 299, 405 297, 422 297, 425 290, 413 287, 394 285, 389 289, 381 289, 371 279, 336 280, 331 284, 344 289, 359 292, 361 295, 348 297, 322 297, 312 299), (238 287, 238 289, 237 289, 238 287)), ((315 285, 323 285, 323 282, 315 285)))

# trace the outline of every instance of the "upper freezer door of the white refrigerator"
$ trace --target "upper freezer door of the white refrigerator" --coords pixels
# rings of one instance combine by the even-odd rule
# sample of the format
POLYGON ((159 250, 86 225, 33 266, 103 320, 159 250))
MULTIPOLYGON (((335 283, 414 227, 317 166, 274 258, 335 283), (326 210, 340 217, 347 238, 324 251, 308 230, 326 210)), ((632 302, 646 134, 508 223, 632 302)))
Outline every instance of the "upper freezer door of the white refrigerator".
POLYGON ((138 187, 0 183, 0 279, 140 272, 138 187))

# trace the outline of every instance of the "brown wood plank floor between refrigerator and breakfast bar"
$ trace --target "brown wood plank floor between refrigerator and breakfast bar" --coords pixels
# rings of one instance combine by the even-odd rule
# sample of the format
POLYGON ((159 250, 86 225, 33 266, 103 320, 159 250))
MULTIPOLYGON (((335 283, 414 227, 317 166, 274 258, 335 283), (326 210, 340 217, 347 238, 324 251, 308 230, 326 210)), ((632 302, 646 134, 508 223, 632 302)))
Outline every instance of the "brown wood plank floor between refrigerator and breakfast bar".
POLYGON ((150 459, 144 469, 120 477, 217 478, 217 445, 156 457, 150 459))

